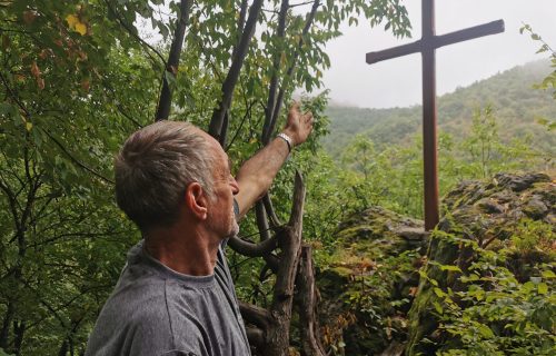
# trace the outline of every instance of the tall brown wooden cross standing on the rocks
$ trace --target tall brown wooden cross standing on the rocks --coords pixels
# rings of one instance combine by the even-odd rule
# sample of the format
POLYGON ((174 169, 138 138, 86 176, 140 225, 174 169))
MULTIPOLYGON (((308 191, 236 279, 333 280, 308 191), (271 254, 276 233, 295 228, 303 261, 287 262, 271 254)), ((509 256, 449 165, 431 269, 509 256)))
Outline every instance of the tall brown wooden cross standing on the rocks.
POLYGON ((438 174, 436 138, 436 49, 443 46, 467 41, 478 37, 504 32, 504 21, 493 21, 464 30, 436 36, 435 1, 421 0, 423 37, 420 40, 367 53, 367 63, 401 57, 410 53, 423 55, 423 155, 425 162, 425 229, 434 229, 439 220, 438 174))

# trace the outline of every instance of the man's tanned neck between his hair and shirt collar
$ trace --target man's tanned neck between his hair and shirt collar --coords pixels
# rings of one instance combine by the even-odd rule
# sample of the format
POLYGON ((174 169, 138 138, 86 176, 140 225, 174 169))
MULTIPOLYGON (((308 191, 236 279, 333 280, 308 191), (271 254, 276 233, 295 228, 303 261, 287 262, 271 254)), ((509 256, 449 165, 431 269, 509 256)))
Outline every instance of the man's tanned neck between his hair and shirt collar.
POLYGON ((143 237, 146 251, 168 268, 190 276, 214 274, 220 241, 209 238, 206 231, 176 226, 143 237))

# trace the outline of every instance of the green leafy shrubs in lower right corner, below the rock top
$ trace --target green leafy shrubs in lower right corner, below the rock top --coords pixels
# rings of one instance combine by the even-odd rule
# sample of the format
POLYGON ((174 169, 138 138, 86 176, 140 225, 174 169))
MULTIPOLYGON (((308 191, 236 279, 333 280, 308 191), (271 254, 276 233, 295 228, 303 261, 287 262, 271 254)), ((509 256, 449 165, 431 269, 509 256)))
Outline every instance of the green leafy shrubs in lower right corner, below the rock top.
MULTIPOLYGON (((434 303, 440 317, 439 329, 449 336, 438 355, 552 355, 556 339, 556 294, 554 266, 537 263, 529 280, 519 281, 508 269, 508 256, 523 245, 522 237, 545 239, 546 231, 554 240, 552 228, 537 221, 522 225, 513 243, 502 250, 486 250, 467 240, 476 254, 466 270, 457 266, 440 266, 454 270, 461 290, 433 283, 438 297, 434 303)), ((460 240, 454 235, 444 239, 460 240)), ((536 248, 536 247, 534 247, 536 248)), ((425 275, 425 277, 427 277, 425 275)))

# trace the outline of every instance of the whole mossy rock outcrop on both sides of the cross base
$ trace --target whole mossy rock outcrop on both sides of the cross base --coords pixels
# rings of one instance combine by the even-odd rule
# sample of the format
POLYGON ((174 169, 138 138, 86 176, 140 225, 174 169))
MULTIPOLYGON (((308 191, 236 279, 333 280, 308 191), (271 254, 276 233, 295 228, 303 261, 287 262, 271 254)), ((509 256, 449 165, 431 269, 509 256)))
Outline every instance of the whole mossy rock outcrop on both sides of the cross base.
MULTIPOLYGON (((438 230, 497 250, 512 244, 524 221, 542 221, 554 234, 555 202, 556 186, 543 174, 464 181, 444 198, 438 230)), ((434 288, 419 280, 418 270, 427 260, 466 270, 473 249, 441 238, 429 241, 423 221, 378 207, 344 221, 337 241, 330 264, 317 273, 327 346, 337 355, 434 355, 435 343, 441 345, 446 335, 438 330, 434 288)), ((554 236, 546 244, 545 250, 509 256, 507 267, 518 280, 526 280, 539 261, 555 260, 554 236)), ((426 274, 439 287, 461 287, 456 273, 437 266, 428 264, 426 274)))

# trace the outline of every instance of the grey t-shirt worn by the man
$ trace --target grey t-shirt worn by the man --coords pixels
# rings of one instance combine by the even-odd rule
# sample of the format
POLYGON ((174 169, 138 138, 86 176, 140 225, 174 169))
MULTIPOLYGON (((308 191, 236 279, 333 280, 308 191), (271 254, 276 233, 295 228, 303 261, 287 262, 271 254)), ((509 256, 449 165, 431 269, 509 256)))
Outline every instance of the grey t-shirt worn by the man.
POLYGON ((142 241, 131 248, 86 355, 250 355, 222 249, 215 274, 197 277, 160 264, 142 241))

